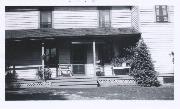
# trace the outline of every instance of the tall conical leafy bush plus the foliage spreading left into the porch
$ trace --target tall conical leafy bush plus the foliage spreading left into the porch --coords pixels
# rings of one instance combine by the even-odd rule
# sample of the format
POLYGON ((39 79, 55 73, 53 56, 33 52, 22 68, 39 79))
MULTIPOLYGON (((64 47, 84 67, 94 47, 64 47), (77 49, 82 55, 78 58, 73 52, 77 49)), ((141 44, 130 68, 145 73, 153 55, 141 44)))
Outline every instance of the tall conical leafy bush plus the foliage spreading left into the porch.
POLYGON ((123 58, 119 56, 112 59, 113 65, 118 66, 123 62, 129 63, 131 66, 130 75, 134 77, 140 86, 150 87, 160 85, 151 55, 143 39, 140 39, 135 46, 124 48, 124 52, 126 56, 123 58))

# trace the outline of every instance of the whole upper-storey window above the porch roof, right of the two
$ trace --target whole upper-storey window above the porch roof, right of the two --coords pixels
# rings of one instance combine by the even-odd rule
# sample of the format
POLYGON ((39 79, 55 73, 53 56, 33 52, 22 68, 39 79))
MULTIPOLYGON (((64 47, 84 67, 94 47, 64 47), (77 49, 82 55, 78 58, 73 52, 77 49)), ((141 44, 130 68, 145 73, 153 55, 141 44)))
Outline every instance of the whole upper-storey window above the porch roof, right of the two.
POLYGON ((99 9, 99 27, 111 27, 110 7, 98 7, 99 9))

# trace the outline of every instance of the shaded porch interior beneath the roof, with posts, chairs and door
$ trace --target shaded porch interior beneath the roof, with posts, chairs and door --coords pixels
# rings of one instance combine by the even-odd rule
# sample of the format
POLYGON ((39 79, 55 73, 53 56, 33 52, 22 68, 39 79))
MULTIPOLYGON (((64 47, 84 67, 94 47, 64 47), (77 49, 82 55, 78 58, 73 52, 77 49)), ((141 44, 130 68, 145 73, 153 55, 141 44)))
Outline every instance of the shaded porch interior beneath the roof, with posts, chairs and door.
POLYGON ((123 63, 119 67, 111 65, 111 58, 117 50, 117 45, 97 42, 92 45, 90 42, 74 43, 71 42, 70 46, 58 44, 54 47, 49 47, 48 43, 46 46, 39 47, 40 44, 34 43, 34 47, 32 47, 28 43, 24 45, 18 42, 15 44, 16 46, 9 48, 16 52, 10 50, 9 54, 13 55, 11 60, 7 61, 11 62, 10 69, 17 73, 18 78, 24 79, 36 78, 36 73, 40 68, 49 68, 52 78, 128 75, 130 69, 128 64, 123 63), (33 63, 35 64, 32 65, 33 63), (37 63, 38 65, 36 65, 37 63))

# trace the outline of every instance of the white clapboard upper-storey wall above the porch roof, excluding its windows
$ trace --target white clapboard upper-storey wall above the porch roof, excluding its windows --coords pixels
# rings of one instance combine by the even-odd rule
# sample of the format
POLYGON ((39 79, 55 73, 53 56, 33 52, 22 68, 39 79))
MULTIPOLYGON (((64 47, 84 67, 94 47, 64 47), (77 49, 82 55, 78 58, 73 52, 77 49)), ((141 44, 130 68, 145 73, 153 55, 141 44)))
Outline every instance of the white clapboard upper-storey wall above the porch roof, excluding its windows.
MULTIPOLYGON (((37 9, 6 12, 6 30, 38 29, 39 14, 37 9)), ((113 28, 131 27, 130 6, 112 7, 110 17, 113 28)), ((54 7, 52 19, 55 29, 99 27, 97 7, 54 7)))

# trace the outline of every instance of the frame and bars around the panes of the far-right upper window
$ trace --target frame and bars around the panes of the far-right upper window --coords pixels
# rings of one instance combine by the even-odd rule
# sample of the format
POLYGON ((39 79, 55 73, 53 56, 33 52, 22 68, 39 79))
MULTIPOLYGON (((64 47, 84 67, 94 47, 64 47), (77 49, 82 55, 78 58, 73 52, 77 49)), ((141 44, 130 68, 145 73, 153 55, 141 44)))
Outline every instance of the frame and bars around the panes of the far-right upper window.
POLYGON ((155 5, 155 21, 157 23, 168 23, 169 22, 169 10, 167 5, 155 5), (157 6, 159 6, 159 15, 157 15, 157 6), (166 15, 163 15, 162 6, 165 6, 166 15), (159 20, 157 19, 159 17, 159 20), (164 17, 167 17, 167 20, 164 20, 164 17))

